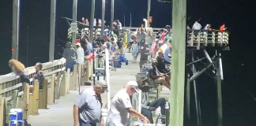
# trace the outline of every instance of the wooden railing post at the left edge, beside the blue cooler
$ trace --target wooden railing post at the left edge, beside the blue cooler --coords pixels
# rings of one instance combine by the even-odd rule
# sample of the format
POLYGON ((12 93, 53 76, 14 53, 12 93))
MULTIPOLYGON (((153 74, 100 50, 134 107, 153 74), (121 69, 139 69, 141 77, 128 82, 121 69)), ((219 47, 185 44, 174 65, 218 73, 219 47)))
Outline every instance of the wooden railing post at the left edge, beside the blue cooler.
POLYGON ((6 98, 1 98, 0 105, 0 126, 6 126, 6 98))

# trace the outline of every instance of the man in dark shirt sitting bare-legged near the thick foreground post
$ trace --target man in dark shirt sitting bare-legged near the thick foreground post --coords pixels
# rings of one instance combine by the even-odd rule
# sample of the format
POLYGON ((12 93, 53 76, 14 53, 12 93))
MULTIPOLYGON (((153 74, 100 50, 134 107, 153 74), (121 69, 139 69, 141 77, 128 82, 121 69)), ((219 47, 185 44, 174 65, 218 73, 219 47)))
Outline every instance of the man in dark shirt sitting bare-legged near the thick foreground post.
POLYGON ((167 74, 159 72, 156 68, 157 61, 156 59, 152 60, 152 69, 149 69, 149 77, 154 80, 154 83, 160 83, 165 87, 168 87, 171 90, 170 76, 167 74))

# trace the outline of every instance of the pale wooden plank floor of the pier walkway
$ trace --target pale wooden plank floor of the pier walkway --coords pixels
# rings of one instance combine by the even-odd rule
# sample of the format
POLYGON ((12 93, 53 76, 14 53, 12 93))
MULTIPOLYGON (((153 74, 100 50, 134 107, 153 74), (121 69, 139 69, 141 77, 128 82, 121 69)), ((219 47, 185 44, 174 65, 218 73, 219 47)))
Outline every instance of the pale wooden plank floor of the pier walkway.
MULTIPOLYGON (((131 55, 131 54, 130 54, 131 55)), ((122 65, 121 69, 111 72, 111 97, 122 89, 129 80, 135 80, 135 74, 139 72, 138 64, 122 65)), ((86 87, 81 87, 85 89, 86 87)), ((73 125, 73 104, 76 101, 78 91, 70 91, 69 95, 60 97, 54 105, 48 105, 49 109, 39 109, 36 116, 29 115, 28 123, 32 126, 70 126, 73 125)), ((107 103, 107 94, 102 95, 104 106, 107 103)))

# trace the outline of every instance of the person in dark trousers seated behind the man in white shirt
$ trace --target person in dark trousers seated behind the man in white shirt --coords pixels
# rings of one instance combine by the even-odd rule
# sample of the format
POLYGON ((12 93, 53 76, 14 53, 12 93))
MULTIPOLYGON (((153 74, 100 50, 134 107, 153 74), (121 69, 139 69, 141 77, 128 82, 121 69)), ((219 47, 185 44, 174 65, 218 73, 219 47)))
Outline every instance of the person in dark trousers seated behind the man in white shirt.
MULTIPOLYGON (((148 84, 144 81, 142 83, 138 83, 138 87, 141 89, 141 113, 147 117, 150 121, 150 124, 153 124, 152 113, 151 111, 155 111, 158 107, 161 108, 161 115, 166 115, 165 110, 165 98, 159 98, 156 101, 149 102, 149 91, 145 89, 148 84)), ((162 120, 164 124, 165 121, 162 120)))

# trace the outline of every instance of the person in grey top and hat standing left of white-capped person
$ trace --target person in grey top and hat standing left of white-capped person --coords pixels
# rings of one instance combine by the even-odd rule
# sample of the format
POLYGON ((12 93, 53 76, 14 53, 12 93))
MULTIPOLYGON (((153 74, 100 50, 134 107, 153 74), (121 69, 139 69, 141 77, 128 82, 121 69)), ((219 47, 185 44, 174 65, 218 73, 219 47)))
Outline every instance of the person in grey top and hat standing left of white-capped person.
POLYGON ((73 72, 73 65, 77 64, 77 50, 73 48, 72 43, 66 43, 62 56, 66 58, 66 71, 70 69, 70 72, 73 72))

